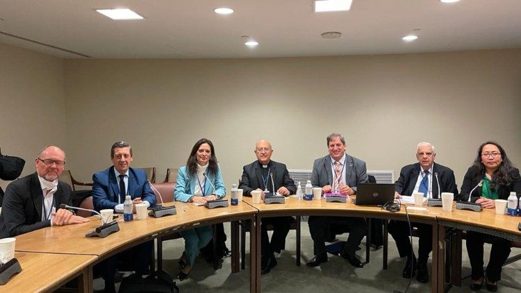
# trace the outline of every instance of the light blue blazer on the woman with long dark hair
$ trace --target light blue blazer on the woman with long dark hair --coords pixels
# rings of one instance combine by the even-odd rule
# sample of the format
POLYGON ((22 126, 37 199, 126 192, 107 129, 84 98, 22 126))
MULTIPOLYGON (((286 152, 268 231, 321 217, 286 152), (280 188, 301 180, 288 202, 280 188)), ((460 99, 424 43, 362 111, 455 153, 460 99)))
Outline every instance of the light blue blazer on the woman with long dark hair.
MULTIPOLYGON (((215 194, 217 199, 224 197, 226 195, 226 188, 224 187, 224 181, 222 181, 221 168, 217 168, 217 174, 207 173, 206 176, 208 176, 209 180, 206 180, 204 185, 204 194, 215 194), (215 186, 215 191, 210 182, 215 186)), ((187 173, 186 166, 179 168, 177 172, 176 189, 174 190, 174 199, 176 201, 187 202, 190 197, 194 195, 196 184, 197 175, 190 176, 187 173)))

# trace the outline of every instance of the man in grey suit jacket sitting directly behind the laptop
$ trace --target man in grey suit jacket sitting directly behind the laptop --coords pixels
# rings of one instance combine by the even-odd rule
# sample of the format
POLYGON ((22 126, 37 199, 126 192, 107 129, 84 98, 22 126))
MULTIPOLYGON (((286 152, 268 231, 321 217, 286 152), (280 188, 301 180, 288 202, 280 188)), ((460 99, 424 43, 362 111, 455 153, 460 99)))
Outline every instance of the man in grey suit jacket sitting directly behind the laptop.
MULTIPOLYGON (((313 163, 311 184, 313 187, 322 187, 324 193, 356 194, 358 183, 367 182, 367 168, 363 160, 354 158, 345 153, 345 138, 338 133, 331 133, 327 139, 329 155, 319 158, 313 163)), ((315 217, 308 219, 309 232, 313 238, 315 257, 306 265, 316 267, 327 261, 326 228, 329 224, 340 224, 349 231, 349 238, 345 243, 340 256, 345 258, 354 267, 363 267, 362 262, 355 256, 367 226, 365 219, 358 217, 315 217)))

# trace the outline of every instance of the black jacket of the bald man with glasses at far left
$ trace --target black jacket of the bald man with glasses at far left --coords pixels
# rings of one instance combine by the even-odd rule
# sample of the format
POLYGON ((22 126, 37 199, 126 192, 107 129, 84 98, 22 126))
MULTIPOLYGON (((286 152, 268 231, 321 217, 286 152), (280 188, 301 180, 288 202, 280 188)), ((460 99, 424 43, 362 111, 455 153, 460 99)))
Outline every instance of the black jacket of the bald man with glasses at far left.
MULTIPOLYGON (((15 237, 51 226, 51 220, 42 221, 42 197, 42 187, 36 173, 10 183, 3 198, 0 238, 15 237)), ((58 181, 58 189, 54 193, 56 210, 62 203, 70 205, 71 199, 71 187, 58 181)))

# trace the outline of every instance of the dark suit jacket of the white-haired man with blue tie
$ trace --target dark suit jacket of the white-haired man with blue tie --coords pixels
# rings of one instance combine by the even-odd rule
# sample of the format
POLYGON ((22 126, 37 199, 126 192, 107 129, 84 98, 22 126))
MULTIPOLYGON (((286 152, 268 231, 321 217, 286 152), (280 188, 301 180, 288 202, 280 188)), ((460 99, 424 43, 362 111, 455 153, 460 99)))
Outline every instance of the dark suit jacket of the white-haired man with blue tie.
MULTIPOLYGON (((456 178, 454 178, 454 171, 440 164, 433 163, 432 167, 432 197, 438 199, 438 193, 452 192, 454 193, 454 199, 458 199, 458 186, 456 185, 456 178), (440 189, 438 192, 438 183, 436 182, 436 176, 438 173, 438 179, 440 180, 440 189)), ((400 176, 395 182, 396 192, 402 195, 411 196, 414 192, 414 187, 420 175, 420 163, 407 165, 400 171, 400 176)))

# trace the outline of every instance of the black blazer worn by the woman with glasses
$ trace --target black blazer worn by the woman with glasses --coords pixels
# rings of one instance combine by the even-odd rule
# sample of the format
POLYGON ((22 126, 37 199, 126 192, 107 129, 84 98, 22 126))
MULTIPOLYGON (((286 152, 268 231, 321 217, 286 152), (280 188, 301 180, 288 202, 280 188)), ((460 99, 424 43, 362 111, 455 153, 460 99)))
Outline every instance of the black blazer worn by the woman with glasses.
MULTIPOLYGON (((461 185, 460 199, 461 201, 468 201, 468 196, 470 191, 476 187, 479 181, 485 176, 485 174, 476 174, 477 171, 476 166, 472 166, 468 168, 465 177, 463 177, 463 184, 461 185)), ((519 169, 515 169, 514 181, 507 186, 499 186, 497 190, 497 196, 499 199, 508 199, 511 191, 517 192, 518 197, 521 194, 521 176, 519 174, 519 169)), ((475 202, 481 196, 481 187, 477 187, 474 192, 472 192, 472 199, 470 201, 475 202)))

